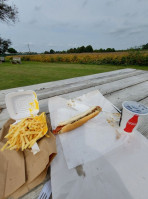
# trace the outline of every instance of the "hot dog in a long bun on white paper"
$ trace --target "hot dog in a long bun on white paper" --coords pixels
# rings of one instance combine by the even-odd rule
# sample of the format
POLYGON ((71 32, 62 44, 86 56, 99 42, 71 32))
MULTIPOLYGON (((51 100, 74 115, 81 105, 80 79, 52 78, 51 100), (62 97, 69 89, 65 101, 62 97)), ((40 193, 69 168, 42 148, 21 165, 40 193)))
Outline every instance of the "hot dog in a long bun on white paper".
POLYGON ((72 131, 73 129, 76 129, 79 126, 82 126, 88 120, 97 116, 101 111, 102 111, 102 108, 100 106, 91 107, 87 111, 79 115, 76 115, 70 118, 69 120, 60 122, 59 125, 56 127, 56 129, 54 129, 52 132, 54 134, 61 134, 68 131, 72 131))

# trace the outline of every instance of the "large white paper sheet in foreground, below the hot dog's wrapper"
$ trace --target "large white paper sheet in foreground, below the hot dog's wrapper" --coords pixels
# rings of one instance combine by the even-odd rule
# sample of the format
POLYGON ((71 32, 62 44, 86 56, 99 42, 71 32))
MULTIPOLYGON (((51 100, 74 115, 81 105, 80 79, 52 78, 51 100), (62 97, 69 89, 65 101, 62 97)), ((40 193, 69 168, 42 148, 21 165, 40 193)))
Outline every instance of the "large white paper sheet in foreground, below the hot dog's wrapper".
POLYGON ((57 156, 51 163, 53 199, 147 199, 148 142, 136 132, 101 158, 68 169, 57 137, 57 156))

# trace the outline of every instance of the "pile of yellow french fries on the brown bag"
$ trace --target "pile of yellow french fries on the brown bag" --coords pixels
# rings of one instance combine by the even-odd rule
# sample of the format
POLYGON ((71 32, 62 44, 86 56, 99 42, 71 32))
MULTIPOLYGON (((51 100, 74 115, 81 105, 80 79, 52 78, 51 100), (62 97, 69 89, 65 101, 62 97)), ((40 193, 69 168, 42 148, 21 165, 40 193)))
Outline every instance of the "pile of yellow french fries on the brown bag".
MULTIPOLYGON (((43 137, 48 131, 45 113, 39 116, 32 116, 22 119, 17 124, 10 125, 10 129, 5 138, 6 144, 1 148, 10 150, 25 150, 31 148, 35 142, 43 137)), ((46 135, 46 137, 50 137, 46 135)))

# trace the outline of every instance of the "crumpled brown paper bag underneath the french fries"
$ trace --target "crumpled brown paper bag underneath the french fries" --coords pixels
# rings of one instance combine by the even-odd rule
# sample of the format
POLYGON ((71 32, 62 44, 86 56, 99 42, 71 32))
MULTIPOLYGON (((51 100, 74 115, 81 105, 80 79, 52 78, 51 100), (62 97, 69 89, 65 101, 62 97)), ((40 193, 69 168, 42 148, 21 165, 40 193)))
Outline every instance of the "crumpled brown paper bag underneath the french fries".
MULTIPOLYGON (((10 119, 0 133, 0 148, 6 142, 4 136, 8 133, 10 119)), ((47 119, 48 129, 51 129, 47 119)), ((30 150, 0 151, 0 199, 12 196, 18 198, 40 184, 47 174, 47 169, 56 155, 56 140, 52 133, 50 138, 43 137, 38 141, 40 152, 36 155, 30 150)))

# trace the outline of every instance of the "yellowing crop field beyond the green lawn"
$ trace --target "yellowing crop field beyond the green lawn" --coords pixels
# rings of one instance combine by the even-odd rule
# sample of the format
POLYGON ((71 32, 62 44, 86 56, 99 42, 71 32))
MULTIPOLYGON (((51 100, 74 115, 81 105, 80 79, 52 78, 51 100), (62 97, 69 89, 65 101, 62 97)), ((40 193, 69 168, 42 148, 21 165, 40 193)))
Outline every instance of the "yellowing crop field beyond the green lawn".
MULTIPOLYGON (((12 57, 9 56, 7 59, 11 58, 12 57)), ((40 61, 51 63, 148 66, 148 51, 21 55, 21 59, 24 61, 40 61)))

